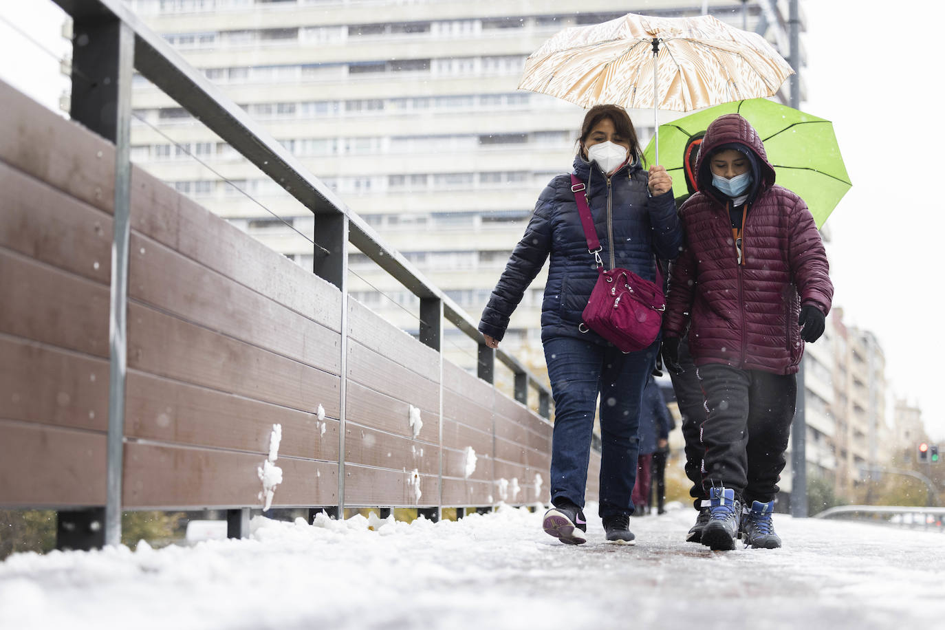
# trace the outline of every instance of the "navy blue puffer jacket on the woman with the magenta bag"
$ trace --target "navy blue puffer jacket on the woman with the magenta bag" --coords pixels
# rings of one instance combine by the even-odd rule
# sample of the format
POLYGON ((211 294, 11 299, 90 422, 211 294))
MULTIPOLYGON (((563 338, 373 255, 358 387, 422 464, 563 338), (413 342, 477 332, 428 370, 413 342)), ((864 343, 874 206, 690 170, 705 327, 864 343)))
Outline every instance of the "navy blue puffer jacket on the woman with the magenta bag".
MULTIPOLYGON (((609 268, 625 267, 654 280, 654 252, 660 258, 672 259, 682 245, 673 191, 651 198, 646 189, 648 174, 639 161, 623 166, 608 180, 596 163, 578 154, 574 172, 588 184, 604 264, 609 268), (609 213, 615 247, 611 247, 609 213)), ((509 317, 549 255, 551 266, 541 304, 541 340, 563 335, 609 343, 596 332, 582 333, 577 328, 597 281, 597 266, 588 252, 568 175, 552 179, 539 196, 524 236, 512 251, 483 311, 479 332, 502 339, 509 317)))

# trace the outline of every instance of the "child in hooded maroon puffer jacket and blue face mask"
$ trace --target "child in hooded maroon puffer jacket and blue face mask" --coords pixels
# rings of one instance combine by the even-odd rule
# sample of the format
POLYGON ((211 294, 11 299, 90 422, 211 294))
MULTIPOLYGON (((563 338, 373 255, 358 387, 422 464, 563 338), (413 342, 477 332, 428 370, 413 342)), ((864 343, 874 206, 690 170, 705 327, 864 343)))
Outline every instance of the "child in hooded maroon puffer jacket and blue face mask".
POLYGON ((739 114, 706 130, 696 182, 679 213, 686 243, 670 269, 662 358, 681 370, 688 328, 708 410, 700 540, 713 550, 734 549, 736 536, 780 547, 771 515, 803 342, 823 333, 833 300, 827 255, 803 199, 775 184, 765 145, 739 114))

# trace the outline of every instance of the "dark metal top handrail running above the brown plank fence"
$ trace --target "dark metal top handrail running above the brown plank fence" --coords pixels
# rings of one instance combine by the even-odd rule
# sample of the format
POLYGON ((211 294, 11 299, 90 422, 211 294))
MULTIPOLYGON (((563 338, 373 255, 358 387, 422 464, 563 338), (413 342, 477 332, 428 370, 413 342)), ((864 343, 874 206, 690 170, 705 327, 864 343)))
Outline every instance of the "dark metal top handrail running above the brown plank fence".
MULTIPOLYGON (((226 94, 191 66, 163 37, 148 28, 121 0, 54 0, 74 19, 111 14, 134 34, 134 66, 180 106, 210 128, 249 162, 318 217, 342 215, 348 222, 348 241, 421 299, 442 302, 443 316, 485 348, 478 322, 429 281, 320 179, 310 173, 283 145, 249 117, 226 94)), ((551 392, 524 364, 502 349, 491 350, 525 383, 538 390, 546 407, 551 392)), ((480 351, 480 362, 483 352, 480 351)), ((480 366, 480 373, 482 367, 480 366)), ((487 373, 490 369, 487 370, 487 373)), ((521 398, 520 398, 521 400, 521 398)), ((542 415, 547 416, 546 413, 542 415)))

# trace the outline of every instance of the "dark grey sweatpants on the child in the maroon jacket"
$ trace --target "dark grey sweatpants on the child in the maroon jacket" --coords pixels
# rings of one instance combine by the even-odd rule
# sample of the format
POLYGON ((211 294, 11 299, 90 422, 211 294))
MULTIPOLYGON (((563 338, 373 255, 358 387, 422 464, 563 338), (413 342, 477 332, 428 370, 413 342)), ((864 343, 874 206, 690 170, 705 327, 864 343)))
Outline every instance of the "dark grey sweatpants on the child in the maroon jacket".
POLYGON ((702 423, 702 485, 724 485, 752 501, 778 493, 798 399, 794 374, 737 367, 697 369, 709 414, 702 423))

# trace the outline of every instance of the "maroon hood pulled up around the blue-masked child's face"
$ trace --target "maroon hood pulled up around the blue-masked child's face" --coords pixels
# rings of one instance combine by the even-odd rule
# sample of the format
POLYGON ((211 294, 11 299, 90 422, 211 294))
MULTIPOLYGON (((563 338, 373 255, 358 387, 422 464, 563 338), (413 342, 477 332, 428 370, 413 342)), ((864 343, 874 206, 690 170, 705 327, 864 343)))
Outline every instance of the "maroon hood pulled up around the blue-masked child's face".
POLYGON ((696 158, 696 183, 700 192, 712 197, 723 206, 729 204, 729 197, 723 195, 712 185, 712 169, 709 167, 709 156, 723 148, 734 148, 745 153, 752 162, 752 175, 749 198, 757 198, 774 185, 775 172, 771 162, 767 160, 765 144, 755 128, 737 113, 727 113, 713 120, 706 129, 706 134, 699 145, 699 155, 696 158))

